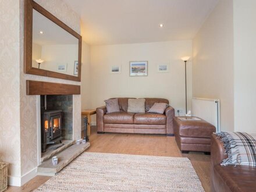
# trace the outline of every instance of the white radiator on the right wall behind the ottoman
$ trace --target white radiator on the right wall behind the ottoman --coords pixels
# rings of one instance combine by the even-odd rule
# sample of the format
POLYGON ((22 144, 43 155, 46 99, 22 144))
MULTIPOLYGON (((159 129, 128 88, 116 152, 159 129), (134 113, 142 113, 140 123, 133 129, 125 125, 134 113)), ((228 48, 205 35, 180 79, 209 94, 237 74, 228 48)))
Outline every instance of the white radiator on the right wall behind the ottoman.
POLYGON ((221 131, 219 99, 193 98, 191 114, 214 125, 217 132, 221 131))

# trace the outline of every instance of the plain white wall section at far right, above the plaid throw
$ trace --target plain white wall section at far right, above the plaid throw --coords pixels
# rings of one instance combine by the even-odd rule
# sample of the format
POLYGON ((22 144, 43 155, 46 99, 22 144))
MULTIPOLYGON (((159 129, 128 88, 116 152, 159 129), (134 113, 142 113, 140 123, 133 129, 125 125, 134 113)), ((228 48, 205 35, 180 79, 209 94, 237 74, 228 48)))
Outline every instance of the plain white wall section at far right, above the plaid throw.
POLYGON ((256 133, 256 1, 234 0, 234 130, 256 133))

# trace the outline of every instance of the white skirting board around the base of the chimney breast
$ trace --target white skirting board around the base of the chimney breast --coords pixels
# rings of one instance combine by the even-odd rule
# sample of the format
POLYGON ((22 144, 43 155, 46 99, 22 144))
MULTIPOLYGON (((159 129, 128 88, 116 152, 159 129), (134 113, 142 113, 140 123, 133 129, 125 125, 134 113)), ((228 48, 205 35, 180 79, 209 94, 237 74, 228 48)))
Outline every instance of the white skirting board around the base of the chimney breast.
POLYGON ((20 187, 23 186, 23 184, 29 182, 35 176, 37 176, 37 168, 30 170, 29 172, 25 173, 22 177, 8 176, 8 185, 20 187))

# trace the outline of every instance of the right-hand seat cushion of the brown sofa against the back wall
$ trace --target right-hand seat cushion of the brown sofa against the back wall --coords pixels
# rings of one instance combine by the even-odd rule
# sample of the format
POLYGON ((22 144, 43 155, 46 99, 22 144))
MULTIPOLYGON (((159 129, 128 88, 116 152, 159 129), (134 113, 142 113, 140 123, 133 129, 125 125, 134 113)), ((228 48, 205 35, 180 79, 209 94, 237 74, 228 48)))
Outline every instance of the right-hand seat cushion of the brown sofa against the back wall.
POLYGON ((144 125, 165 125, 166 116, 158 113, 136 113, 134 115, 134 123, 144 125))

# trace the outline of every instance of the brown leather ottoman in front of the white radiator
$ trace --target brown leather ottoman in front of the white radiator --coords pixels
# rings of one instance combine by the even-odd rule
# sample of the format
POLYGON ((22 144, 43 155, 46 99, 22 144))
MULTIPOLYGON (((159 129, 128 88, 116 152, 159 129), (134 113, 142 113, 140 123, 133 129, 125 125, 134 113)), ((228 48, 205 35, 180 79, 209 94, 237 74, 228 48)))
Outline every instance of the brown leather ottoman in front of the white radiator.
MULTIPOLYGON (((179 118, 184 118, 179 116, 179 118)), ((200 118, 199 118, 200 119, 200 118)), ((201 151, 209 154, 211 151, 211 135, 215 126, 205 120, 180 120, 173 118, 175 140, 182 153, 201 151)))

